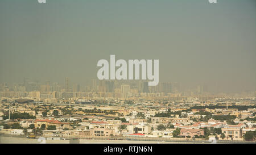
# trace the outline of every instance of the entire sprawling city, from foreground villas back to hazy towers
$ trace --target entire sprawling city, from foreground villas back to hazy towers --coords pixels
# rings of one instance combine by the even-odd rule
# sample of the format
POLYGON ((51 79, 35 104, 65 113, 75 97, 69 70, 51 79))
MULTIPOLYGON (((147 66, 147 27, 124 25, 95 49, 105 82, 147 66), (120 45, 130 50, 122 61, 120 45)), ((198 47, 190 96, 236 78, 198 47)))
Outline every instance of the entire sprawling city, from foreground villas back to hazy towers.
MULTIPOLYGON (((255 143, 255 92, 209 93, 178 83, 92 80, 7 85, 0 91, 0 137, 255 143)), ((1 141, 0 141, 1 143, 1 141)))

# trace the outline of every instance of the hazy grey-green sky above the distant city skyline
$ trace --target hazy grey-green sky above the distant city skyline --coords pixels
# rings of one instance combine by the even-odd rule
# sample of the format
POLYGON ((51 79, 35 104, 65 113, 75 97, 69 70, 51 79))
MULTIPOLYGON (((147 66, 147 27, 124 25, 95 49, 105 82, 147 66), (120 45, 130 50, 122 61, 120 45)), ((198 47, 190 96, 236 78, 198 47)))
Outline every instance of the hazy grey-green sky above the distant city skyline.
POLYGON ((255 90, 254 0, 0 1, 0 82, 85 83, 97 61, 159 59, 160 81, 255 90))

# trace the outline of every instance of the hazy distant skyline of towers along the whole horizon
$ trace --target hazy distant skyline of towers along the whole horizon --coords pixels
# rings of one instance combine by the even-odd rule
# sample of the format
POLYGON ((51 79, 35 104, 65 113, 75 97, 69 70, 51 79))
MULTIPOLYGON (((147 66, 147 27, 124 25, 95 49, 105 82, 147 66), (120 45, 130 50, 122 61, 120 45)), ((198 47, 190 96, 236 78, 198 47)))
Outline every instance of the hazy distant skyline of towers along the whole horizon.
POLYGON ((99 80, 90 79, 81 84, 73 82, 71 78, 65 77, 60 81, 32 81, 30 78, 23 78, 22 82, 0 82, 0 92, 5 91, 42 91, 42 92, 115 92, 115 89, 121 89, 129 85, 129 89, 137 90, 137 93, 178 93, 182 96, 193 95, 220 95, 222 93, 255 95, 256 91, 241 90, 226 92, 221 90, 221 86, 210 87, 206 83, 201 83, 188 87, 181 82, 160 81, 158 86, 148 86, 147 80, 99 80), (246 93, 246 94, 244 94, 246 93))

